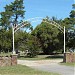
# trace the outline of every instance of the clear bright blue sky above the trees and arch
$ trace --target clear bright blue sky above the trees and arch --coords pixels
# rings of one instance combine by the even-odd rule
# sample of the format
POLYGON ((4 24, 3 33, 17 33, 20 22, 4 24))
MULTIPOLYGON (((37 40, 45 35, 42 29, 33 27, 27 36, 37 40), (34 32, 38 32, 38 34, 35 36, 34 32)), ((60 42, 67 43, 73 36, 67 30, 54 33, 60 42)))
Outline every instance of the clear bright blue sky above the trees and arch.
MULTIPOLYGON (((0 0, 0 12, 4 11, 4 6, 14 0, 0 0)), ((69 17, 72 4, 75 0, 24 0, 25 20, 35 17, 55 16, 58 19, 69 17)), ((33 24, 36 27, 36 24, 33 24)))

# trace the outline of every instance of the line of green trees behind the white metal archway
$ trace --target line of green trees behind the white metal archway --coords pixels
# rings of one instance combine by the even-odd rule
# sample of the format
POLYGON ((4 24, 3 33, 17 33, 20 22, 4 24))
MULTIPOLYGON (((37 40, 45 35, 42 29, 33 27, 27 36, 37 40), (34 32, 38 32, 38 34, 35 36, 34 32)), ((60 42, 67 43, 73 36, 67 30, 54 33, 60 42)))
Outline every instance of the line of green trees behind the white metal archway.
MULTIPOLYGON (((0 52, 12 52, 12 25, 17 25, 24 19, 23 0, 15 0, 4 7, 0 12, 0 52)), ((45 54, 63 53, 63 33, 55 26, 47 23, 55 21, 62 28, 66 27, 66 51, 75 49, 75 4, 72 5, 69 17, 57 19, 56 17, 46 20, 36 26, 31 33, 19 29, 15 33, 15 50, 29 50, 30 56, 36 56, 40 52, 45 54)), ((31 28, 27 26, 26 28, 31 28)))

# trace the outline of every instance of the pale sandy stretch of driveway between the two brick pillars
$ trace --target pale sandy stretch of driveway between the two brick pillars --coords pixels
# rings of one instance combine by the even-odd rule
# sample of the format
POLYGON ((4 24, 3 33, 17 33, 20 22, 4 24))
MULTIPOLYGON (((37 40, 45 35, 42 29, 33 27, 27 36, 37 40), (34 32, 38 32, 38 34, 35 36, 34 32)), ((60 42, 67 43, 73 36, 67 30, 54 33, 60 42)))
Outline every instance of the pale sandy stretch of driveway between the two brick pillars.
POLYGON ((48 64, 56 64, 62 62, 62 59, 57 60, 18 60, 18 64, 26 66, 40 66, 48 64))

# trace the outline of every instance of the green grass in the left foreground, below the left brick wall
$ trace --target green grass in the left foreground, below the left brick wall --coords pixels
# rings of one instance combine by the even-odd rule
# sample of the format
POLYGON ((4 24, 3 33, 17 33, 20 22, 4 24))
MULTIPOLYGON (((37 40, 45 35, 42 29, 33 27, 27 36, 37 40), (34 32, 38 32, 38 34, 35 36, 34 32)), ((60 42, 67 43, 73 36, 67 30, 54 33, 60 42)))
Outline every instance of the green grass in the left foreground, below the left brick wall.
POLYGON ((29 68, 27 66, 17 65, 17 66, 0 67, 0 75, 59 75, 59 74, 38 71, 29 68))

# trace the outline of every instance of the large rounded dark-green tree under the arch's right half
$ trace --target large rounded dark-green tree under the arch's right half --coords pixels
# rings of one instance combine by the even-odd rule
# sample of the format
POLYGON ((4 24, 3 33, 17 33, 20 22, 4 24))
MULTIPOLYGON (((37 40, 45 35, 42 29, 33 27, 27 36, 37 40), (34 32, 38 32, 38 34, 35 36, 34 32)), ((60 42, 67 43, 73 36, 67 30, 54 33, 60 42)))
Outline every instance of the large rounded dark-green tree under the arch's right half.
MULTIPOLYGON (((49 21, 49 19, 47 21, 49 21)), ((40 40, 42 50, 47 54, 58 49, 58 34, 59 29, 46 22, 42 22, 32 31, 32 35, 40 40)))

